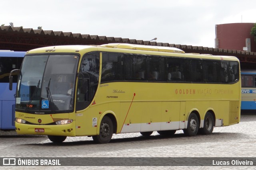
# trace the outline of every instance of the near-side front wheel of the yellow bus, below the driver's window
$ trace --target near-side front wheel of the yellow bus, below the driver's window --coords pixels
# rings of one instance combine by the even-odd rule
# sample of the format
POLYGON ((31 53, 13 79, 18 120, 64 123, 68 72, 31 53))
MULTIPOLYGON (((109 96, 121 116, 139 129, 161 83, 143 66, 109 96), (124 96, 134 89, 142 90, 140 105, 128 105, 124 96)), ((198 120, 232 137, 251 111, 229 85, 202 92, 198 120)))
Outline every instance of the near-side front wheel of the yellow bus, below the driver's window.
POLYGON ((104 116, 100 123, 100 134, 92 136, 96 143, 109 143, 113 135, 113 123, 108 116, 104 116))

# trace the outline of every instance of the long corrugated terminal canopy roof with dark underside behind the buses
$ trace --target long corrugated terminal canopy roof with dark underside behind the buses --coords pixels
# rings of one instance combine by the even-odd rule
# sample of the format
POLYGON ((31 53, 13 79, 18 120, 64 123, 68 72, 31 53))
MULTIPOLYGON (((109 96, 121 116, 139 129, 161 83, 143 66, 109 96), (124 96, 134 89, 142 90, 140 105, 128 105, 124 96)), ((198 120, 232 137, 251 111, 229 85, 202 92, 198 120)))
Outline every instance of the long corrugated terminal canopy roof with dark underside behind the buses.
POLYGON ((240 60, 241 67, 256 69, 256 52, 245 52, 232 49, 217 49, 192 45, 157 43, 136 39, 106 37, 62 31, 0 26, 0 49, 2 50, 28 51, 39 47, 54 45, 103 45, 108 43, 128 43, 138 45, 175 47, 185 51, 185 53, 235 56, 240 60))

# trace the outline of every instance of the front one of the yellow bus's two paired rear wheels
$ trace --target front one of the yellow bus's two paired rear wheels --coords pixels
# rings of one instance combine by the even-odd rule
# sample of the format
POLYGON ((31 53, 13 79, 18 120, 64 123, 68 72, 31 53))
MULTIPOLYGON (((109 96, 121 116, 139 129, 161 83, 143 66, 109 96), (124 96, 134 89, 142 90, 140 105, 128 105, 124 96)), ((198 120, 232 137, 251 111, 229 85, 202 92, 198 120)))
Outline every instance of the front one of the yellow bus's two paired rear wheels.
POLYGON ((187 129, 183 129, 183 132, 187 136, 196 136, 199 128, 198 117, 195 113, 191 113, 188 117, 187 129))

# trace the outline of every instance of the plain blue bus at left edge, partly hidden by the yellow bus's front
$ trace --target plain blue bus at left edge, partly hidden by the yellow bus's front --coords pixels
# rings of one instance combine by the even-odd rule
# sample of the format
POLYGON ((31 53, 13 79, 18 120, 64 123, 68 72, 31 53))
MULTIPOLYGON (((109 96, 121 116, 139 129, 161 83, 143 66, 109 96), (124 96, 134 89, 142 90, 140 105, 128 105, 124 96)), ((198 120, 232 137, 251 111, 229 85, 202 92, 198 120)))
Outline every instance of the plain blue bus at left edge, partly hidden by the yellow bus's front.
MULTIPOLYGON (((9 90, 9 74, 11 70, 20 69, 26 52, 0 50, 0 130, 14 130, 15 90, 9 90)), ((13 77, 14 88, 17 76, 13 77)))

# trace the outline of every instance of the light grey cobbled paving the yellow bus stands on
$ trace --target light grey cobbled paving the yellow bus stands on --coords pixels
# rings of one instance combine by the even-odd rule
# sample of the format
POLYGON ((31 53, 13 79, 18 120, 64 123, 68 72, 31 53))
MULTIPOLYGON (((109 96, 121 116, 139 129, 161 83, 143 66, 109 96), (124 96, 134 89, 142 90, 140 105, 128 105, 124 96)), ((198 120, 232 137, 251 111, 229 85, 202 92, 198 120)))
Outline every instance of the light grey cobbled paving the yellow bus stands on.
MULTIPOLYGON (((241 115, 241 122, 214 128, 212 135, 186 137, 177 131, 173 137, 154 132, 150 137, 140 133, 114 135, 108 144, 94 144, 90 137, 68 137, 61 145, 45 136, 17 135, 15 131, 0 131, 0 154, 4 157, 256 157, 256 115, 241 115)), ((1 157, 2 157, 1 156, 1 157)), ((113 160, 114 161, 114 160, 113 160)), ((254 162, 256 164, 256 162, 254 162)), ((98 162, 101 165, 101 162, 98 162)), ((6 169, 6 167, 0 167, 6 169)), ((8 167, 9 168, 9 167, 8 167)), ((12 167, 22 169, 25 167, 12 167)), ((38 169, 38 167, 29 167, 38 169)), ((40 167, 59 169, 60 167, 40 167)), ((62 167, 73 169, 74 167, 62 167)), ((78 169, 249 169, 254 167, 120 167, 78 166, 78 169)))

